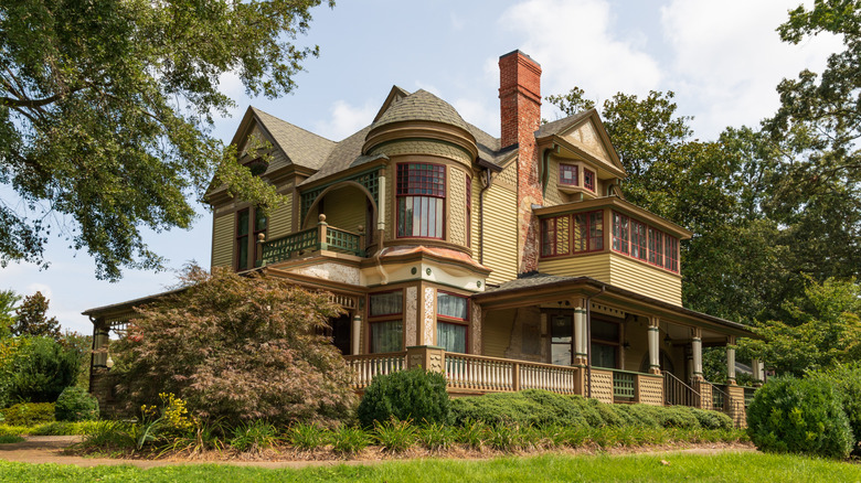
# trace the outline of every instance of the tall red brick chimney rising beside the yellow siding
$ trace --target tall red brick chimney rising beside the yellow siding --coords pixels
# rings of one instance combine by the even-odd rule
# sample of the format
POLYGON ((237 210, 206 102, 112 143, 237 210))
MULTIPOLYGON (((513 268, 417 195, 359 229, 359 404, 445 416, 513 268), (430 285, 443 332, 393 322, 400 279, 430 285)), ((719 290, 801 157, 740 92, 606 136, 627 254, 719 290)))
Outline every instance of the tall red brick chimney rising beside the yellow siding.
POLYGON ((501 148, 518 146, 518 253, 520 272, 538 270, 539 226, 532 205, 543 205, 535 130, 541 124, 541 66, 513 51, 499 57, 501 148))

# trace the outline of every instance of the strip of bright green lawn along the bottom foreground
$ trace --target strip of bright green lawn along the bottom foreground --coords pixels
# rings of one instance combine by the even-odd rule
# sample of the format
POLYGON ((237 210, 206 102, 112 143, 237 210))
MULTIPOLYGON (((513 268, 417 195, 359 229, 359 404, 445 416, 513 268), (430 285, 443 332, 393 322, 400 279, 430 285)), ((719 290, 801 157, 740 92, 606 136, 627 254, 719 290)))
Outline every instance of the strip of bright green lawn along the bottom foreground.
POLYGON ((116 482, 820 482, 861 481, 861 465, 796 455, 723 453, 718 455, 541 455, 489 461, 387 461, 366 466, 325 466, 304 470, 265 470, 228 465, 78 468, 56 464, 0 462, 0 481, 116 481, 116 482), (667 460, 670 464, 661 464, 667 460))

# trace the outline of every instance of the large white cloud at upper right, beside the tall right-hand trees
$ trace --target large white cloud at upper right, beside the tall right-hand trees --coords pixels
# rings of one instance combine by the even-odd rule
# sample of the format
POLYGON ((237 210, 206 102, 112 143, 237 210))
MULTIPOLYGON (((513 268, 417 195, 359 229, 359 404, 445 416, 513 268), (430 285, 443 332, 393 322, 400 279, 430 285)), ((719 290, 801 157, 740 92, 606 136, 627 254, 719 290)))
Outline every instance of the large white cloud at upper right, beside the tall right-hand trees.
POLYGON ((821 69, 828 54, 840 50, 833 35, 800 45, 780 42, 775 29, 797 4, 798 0, 672 0, 661 9, 673 58, 667 66, 670 83, 662 90, 676 90, 680 106, 699 112, 698 135, 712 138, 726 126, 756 126, 777 109, 775 87, 782 78, 795 77, 804 68, 821 69))

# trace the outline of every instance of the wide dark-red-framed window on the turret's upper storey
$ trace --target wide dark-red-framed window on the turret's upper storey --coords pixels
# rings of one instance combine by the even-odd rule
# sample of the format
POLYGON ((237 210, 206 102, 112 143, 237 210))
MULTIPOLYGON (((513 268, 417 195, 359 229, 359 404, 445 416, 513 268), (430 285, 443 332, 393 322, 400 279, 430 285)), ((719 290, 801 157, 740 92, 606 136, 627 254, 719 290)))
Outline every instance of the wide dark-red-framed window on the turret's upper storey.
POLYGON ((397 236, 443 238, 446 168, 440 164, 397 165, 397 236))

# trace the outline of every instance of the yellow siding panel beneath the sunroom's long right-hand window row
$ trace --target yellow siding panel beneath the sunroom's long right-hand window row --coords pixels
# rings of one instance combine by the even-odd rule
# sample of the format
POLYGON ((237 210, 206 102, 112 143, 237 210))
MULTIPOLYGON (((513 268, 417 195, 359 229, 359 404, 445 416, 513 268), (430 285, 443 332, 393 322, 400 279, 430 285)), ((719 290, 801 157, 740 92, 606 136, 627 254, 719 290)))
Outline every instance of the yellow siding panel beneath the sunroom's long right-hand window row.
POLYGON ((681 277, 662 268, 650 267, 624 255, 609 254, 609 283, 681 305, 681 277))

